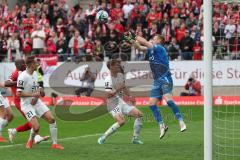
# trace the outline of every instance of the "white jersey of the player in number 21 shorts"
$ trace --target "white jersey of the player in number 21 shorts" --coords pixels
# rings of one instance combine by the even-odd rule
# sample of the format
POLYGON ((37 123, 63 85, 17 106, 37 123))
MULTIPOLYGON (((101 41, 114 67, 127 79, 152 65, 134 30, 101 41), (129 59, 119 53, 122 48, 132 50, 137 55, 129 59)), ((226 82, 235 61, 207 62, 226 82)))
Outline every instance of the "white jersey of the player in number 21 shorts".
MULTIPOLYGON (((38 75, 37 72, 34 71, 32 75, 30 75, 27 70, 23 71, 17 80, 17 91, 22 92, 35 92, 38 88, 38 75)), ((31 103, 33 97, 21 97, 21 106, 26 106, 31 103)))

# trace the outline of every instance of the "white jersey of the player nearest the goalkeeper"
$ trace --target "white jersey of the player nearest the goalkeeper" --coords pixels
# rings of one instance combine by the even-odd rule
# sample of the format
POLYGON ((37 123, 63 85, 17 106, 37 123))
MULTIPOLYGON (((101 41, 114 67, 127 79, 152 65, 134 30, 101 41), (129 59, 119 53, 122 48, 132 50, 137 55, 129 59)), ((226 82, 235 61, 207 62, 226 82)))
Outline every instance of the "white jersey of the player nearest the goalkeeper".
MULTIPOLYGON (((114 91, 124 83, 124 75, 118 73, 117 77, 112 77, 111 74, 105 78, 105 91, 114 91)), ((107 99, 107 108, 109 111, 117 107, 123 97, 122 92, 118 92, 114 97, 107 99)))

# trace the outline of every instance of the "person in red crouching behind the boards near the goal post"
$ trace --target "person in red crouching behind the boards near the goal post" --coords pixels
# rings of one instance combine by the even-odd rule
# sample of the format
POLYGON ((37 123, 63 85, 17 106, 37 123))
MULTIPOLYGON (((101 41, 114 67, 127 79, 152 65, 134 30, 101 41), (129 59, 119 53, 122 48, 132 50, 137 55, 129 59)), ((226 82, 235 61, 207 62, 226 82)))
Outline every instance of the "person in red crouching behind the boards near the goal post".
POLYGON ((201 83, 194 75, 191 75, 185 84, 185 89, 188 92, 181 92, 180 96, 201 96, 201 83))

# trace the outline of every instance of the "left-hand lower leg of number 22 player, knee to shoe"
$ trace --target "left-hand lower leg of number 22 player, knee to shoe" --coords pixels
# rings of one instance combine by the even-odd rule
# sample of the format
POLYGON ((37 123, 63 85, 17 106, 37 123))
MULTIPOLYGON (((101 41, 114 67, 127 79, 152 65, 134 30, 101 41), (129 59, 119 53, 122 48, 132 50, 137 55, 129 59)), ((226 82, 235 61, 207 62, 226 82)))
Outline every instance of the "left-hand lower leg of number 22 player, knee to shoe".
POLYGON ((108 128, 108 130, 98 139, 98 144, 103 144, 107 137, 115 133, 118 128, 125 124, 125 119, 122 114, 116 114, 113 118, 115 119, 116 123, 108 128))

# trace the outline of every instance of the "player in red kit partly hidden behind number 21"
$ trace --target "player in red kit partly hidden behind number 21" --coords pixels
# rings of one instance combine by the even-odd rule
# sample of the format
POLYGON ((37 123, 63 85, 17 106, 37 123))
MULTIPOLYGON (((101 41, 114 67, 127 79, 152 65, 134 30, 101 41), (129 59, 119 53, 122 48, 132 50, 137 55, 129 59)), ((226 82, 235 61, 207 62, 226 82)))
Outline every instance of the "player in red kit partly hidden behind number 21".
MULTIPOLYGON (((15 66, 16 66, 16 70, 13 71, 11 76, 9 77, 9 79, 7 81, 5 81, 5 87, 11 87, 12 94, 13 94, 13 97, 14 97, 14 104, 15 104, 16 108, 18 109, 18 111, 25 117, 25 114, 21 111, 20 97, 16 96, 16 93, 17 93, 17 79, 18 79, 19 74, 26 69, 25 61, 23 59, 16 60, 15 61, 15 66)), ((18 132, 28 131, 31 128, 32 128, 31 124, 29 122, 27 122, 27 123, 25 123, 21 126, 16 127, 16 128, 8 129, 9 140, 11 142, 13 142, 14 139, 15 139, 15 136, 18 132)), ((46 136, 46 137, 43 137, 41 140, 47 140, 48 138, 49 137, 46 136)), ((39 143, 39 142, 37 142, 37 143, 39 143)), ((29 147, 28 144, 27 144, 26 147, 27 148, 29 147)))

